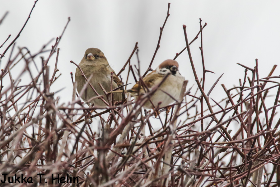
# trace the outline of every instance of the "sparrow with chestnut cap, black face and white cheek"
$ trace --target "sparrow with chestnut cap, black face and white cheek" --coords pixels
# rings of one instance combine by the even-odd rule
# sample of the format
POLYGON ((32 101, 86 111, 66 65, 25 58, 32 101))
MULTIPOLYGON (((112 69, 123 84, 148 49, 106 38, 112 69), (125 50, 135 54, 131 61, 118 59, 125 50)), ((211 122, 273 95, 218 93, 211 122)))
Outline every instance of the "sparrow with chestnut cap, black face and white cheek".
POLYGON ((179 73, 179 64, 175 60, 165 60, 163 61, 156 70, 147 74, 143 78, 143 81, 138 81, 131 89, 128 90, 116 90, 110 93, 120 93, 128 92, 131 93, 133 97, 138 98, 143 96, 145 93, 149 92, 153 88, 156 91, 151 94, 150 99, 144 103, 143 107, 147 109, 159 107, 166 107, 175 101, 178 101, 182 85, 184 82, 184 77, 179 73), (162 82, 162 80, 167 78, 162 82))

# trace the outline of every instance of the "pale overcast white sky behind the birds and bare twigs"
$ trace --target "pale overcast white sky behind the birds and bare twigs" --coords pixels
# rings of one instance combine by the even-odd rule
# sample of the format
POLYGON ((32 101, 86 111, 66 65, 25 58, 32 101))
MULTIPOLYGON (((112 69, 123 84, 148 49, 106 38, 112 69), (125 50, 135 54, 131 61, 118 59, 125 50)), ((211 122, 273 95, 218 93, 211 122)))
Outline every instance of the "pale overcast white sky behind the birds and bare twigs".
MULTIPOLYGON (((72 97, 70 72, 76 69, 69 61, 79 63, 89 47, 102 50, 113 69, 119 72, 135 42, 138 42, 142 73, 147 69, 156 49, 159 27, 165 20, 168 2, 39 0, 16 46, 26 46, 31 53, 37 52, 43 44, 61 34, 67 18, 71 17, 58 46, 58 69, 62 76, 51 89, 55 92, 66 87, 56 96, 60 96, 61 102, 68 103, 72 97)), ((0 17, 6 11, 9 14, 0 25, 0 43, 9 34, 12 36, 0 53, 16 37, 33 4, 34 1, 1 1, 0 17)), ((244 68, 236 63, 253 68, 255 58, 258 58, 260 78, 267 76, 274 64, 280 64, 279 5, 279 1, 171 1, 170 17, 152 68, 155 69, 163 60, 173 59, 185 47, 182 25, 187 26, 191 41, 199 31, 199 18, 202 18, 203 24, 208 24, 203 30, 205 66, 216 73, 207 74, 206 90, 224 73, 210 95, 219 101, 226 96, 220 84, 230 88, 244 77, 244 68)), ((198 39, 191 45, 191 52, 198 76, 202 77, 199 45, 198 39)), ((194 84, 187 51, 177 60, 181 74, 190 81, 189 86, 194 84)), ((0 68, 6 63, 7 58, 3 58, 0 68)), ((55 55, 49 61, 51 68, 54 68, 54 63, 55 55)), ((136 56, 131 63, 137 64, 136 56)), ((274 75, 280 74, 279 69, 277 67, 274 75)), ((134 83, 133 79, 130 82, 134 83)))

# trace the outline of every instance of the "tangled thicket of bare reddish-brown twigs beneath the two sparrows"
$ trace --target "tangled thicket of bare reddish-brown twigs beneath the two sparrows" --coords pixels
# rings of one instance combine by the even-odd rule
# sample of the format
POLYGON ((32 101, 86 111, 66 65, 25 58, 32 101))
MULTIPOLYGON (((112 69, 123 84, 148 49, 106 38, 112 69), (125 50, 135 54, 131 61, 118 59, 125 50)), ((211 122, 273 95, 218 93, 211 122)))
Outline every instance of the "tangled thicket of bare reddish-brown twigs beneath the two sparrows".
MULTIPOLYGON (((127 75, 122 74, 127 78, 123 79, 124 84, 128 83, 129 75, 141 81, 152 70, 169 8, 170 3, 147 71, 139 74, 139 59, 138 66, 130 63, 131 57, 137 55, 136 43, 118 73, 128 69, 127 75)), ((226 88, 222 84, 223 99, 211 100, 209 94, 220 77, 209 91, 204 90, 206 76, 211 73, 205 69, 203 58, 202 33, 206 25, 200 19, 198 34, 191 42, 183 25, 186 47, 174 59, 186 50, 196 85, 190 91, 185 81, 180 101, 171 105, 168 114, 165 108, 156 108, 155 112, 161 112, 156 119, 154 111, 141 108, 154 90, 141 99, 127 97, 123 104, 109 102, 100 109, 82 103, 72 77, 72 101, 58 103, 58 94, 51 93, 50 88, 54 81, 60 81, 58 45, 64 30, 50 49, 46 44, 35 53, 27 47, 15 47, 24 26, 2 50, 9 36, 0 46, 3 51, 0 62, 4 67, 0 75, 0 177, 23 174, 33 178, 33 184, 29 185, 34 186, 280 186, 280 119, 276 112, 280 106, 280 76, 273 76, 276 65, 267 77, 259 77, 257 59, 255 67, 239 64, 245 70, 239 86, 226 88), (199 40, 202 78, 196 74, 190 51, 190 45, 199 40), (49 51, 47 59, 36 58, 46 51, 49 51), (49 60, 53 55, 56 61, 49 60), (50 63, 55 63, 54 70, 49 68, 50 63), (31 64, 38 67, 37 72, 30 70, 31 64), (22 68, 21 74, 12 74, 14 68, 22 68), (23 74, 30 76, 31 81, 22 84, 23 74), (268 93, 274 97, 274 103, 266 102, 268 93), (93 118, 100 123, 93 122, 93 118), (94 132, 92 127, 97 125, 100 130, 94 132), (156 126, 157 130, 153 128, 156 126), (144 134, 145 127, 149 131, 144 134), (37 174, 44 174, 42 183, 37 174), (79 183, 51 184, 52 174, 71 174, 78 177, 79 183)), ((107 97, 110 100, 109 94, 107 97)))

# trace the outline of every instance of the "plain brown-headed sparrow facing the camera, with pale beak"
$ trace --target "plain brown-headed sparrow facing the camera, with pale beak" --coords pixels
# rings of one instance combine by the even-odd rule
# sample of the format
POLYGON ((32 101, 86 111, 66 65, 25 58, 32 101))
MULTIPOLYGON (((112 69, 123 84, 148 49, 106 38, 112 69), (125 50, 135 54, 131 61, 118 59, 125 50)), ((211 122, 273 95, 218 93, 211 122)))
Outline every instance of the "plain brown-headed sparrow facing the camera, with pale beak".
MULTIPOLYGON (((100 49, 88 48, 79 66, 81 67, 83 73, 86 75, 87 78, 93 75, 93 77, 90 79, 91 85, 94 87, 94 89, 96 89, 99 95, 104 96, 104 100, 107 102, 108 100, 105 97, 105 94, 98 85, 98 83, 102 84, 106 92, 111 91, 111 72, 113 72, 114 74, 112 89, 122 86, 122 82, 120 81, 119 77, 116 75, 114 70, 110 67, 106 57, 104 56, 104 53, 100 49)), ((84 84, 86 84, 86 80, 82 77, 82 73, 79 70, 79 68, 76 68, 75 81, 77 82, 77 91, 80 93, 84 84)), ((95 96, 97 96, 96 93, 91 89, 90 85, 87 85, 86 91, 81 95, 81 98, 84 101, 88 101, 89 99, 95 96)), ((122 93, 114 94, 115 101, 121 101, 122 98, 122 93)), ((107 106, 100 99, 93 99, 88 104, 107 106)))

